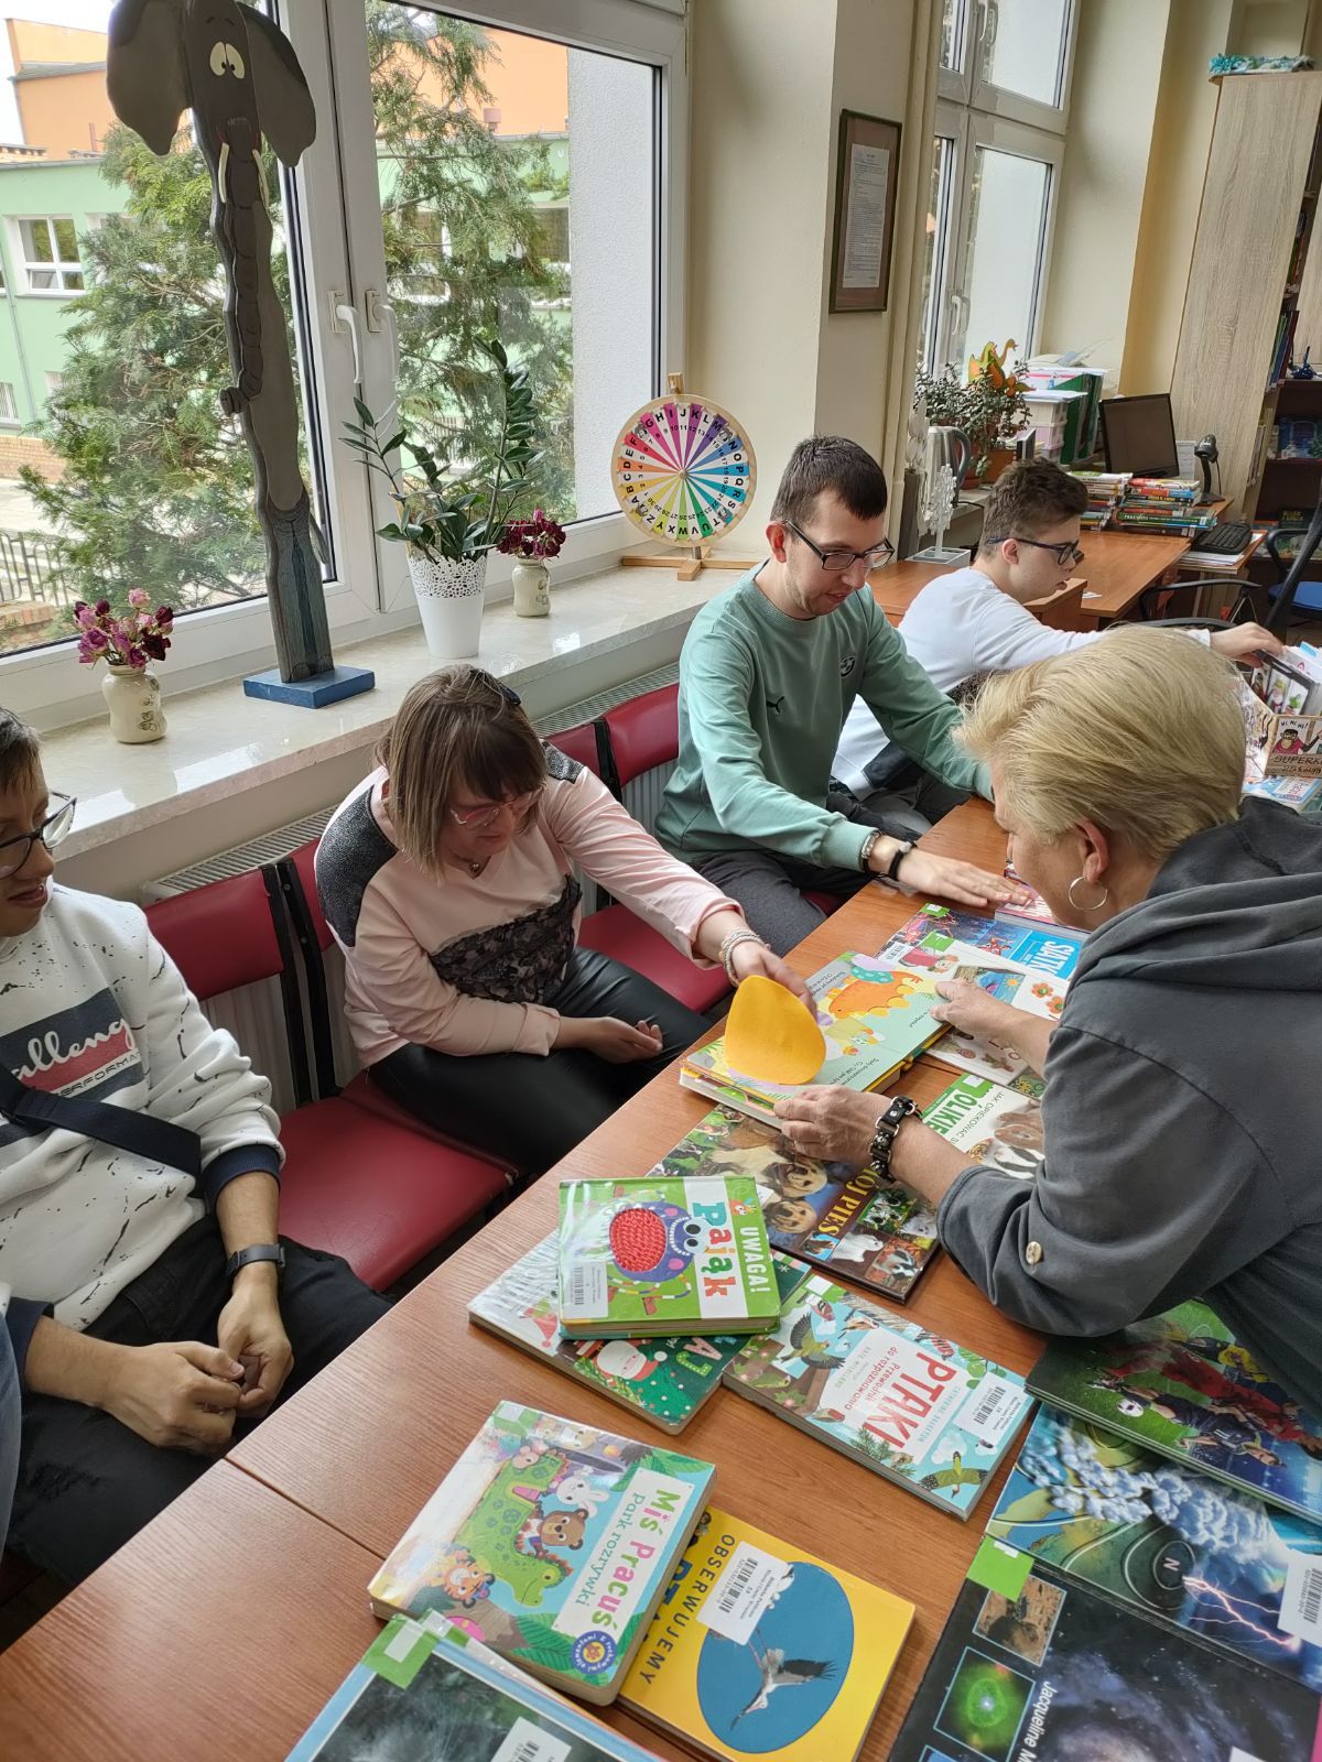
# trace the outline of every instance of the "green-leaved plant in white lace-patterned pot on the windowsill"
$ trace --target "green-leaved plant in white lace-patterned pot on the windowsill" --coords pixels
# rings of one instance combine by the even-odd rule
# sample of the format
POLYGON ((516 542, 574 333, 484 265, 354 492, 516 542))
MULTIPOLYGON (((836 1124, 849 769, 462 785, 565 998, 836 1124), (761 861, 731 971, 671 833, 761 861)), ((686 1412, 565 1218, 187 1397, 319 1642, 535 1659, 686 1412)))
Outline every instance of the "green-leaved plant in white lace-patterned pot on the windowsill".
POLYGON ((379 527, 377 536, 407 546, 427 647, 449 661, 478 654, 486 559, 541 458, 527 370, 511 368, 495 340, 479 347, 501 375, 502 411, 495 446, 471 476, 449 476, 449 462, 411 440, 407 428, 391 423, 393 432, 382 439, 384 418, 375 418, 361 398, 354 398, 358 421, 344 425, 345 446, 361 453, 367 467, 390 485, 397 518, 379 527), (412 455, 412 474, 398 463, 400 448, 412 455))

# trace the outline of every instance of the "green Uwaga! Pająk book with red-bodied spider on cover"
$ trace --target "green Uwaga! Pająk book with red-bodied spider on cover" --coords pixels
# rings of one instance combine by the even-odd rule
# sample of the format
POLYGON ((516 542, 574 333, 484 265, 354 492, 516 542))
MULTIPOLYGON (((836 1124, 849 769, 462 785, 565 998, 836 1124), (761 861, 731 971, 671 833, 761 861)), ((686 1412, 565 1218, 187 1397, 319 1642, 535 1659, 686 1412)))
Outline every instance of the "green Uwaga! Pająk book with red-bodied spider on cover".
POLYGON ((569 1339, 749 1334, 781 1313, 747 1175, 562 1181, 559 1235, 569 1339))

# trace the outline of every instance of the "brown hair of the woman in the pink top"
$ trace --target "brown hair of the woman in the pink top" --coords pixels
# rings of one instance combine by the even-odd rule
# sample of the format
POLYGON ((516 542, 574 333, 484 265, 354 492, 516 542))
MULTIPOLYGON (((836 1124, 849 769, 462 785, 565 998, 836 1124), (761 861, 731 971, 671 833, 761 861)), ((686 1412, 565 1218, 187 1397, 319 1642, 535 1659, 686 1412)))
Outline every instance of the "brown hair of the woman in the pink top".
POLYGON ((464 663, 411 687, 377 747, 377 763, 390 772, 390 818, 400 849, 432 872, 462 789, 504 802, 546 781, 546 752, 516 694, 464 663))

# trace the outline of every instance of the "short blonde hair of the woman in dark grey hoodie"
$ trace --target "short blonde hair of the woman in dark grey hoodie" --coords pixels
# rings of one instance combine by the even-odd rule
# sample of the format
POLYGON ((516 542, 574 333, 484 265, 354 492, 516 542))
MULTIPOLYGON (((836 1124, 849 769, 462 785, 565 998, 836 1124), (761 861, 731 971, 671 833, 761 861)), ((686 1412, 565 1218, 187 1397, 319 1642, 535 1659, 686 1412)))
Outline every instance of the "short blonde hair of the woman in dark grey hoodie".
POLYGON ((1054 842, 1093 825, 1156 862, 1239 818, 1244 717, 1234 670, 1177 631, 1128 624, 982 687, 961 738, 998 800, 1054 842))

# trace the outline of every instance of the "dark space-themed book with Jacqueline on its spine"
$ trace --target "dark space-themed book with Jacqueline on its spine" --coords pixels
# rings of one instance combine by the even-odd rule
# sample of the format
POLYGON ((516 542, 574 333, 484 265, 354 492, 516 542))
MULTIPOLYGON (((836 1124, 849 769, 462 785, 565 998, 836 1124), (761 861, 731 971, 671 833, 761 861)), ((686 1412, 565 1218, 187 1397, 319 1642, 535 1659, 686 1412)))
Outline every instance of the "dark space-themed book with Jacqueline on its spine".
POLYGON ((890 1762, 1317 1762, 1297 1683, 984 1542, 890 1762))

